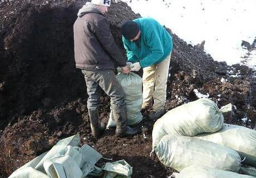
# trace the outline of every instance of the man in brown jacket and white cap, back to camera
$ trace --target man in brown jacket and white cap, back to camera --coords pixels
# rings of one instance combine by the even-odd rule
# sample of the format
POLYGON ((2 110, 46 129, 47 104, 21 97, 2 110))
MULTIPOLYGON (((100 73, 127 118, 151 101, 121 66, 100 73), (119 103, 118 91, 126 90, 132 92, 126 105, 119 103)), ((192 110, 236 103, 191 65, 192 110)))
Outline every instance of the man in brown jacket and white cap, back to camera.
POLYGON ((98 107, 101 89, 111 98, 118 136, 135 135, 137 130, 127 125, 125 93, 117 82, 114 69, 121 67, 129 73, 126 60, 111 34, 104 16, 110 0, 92 0, 79 10, 73 25, 76 68, 82 70, 87 86, 87 109, 92 136, 99 137, 105 126, 99 122, 98 107))

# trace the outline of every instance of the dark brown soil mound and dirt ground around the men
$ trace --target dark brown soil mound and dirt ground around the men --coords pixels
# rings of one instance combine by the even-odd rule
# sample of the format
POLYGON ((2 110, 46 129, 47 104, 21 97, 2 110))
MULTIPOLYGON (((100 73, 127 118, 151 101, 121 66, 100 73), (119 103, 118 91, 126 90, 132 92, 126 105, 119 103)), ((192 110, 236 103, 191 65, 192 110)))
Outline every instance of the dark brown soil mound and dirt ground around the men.
MULTIPOLYGON (((91 145, 113 161, 125 159, 133 167, 132 177, 168 177, 174 172, 156 155, 149 156, 154 125, 154 121, 147 120, 149 111, 135 126, 142 129, 139 135, 117 138, 110 129, 100 139, 92 138, 85 80, 81 70, 75 68, 73 56, 73 23, 84 2, 0 2, 0 177, 8 177, 50 150, 58 140, 76 133, 81 136, 81 145, 91 145)), ((106 16, 125 54, 121 23, 140 14, 132 12, 124 2, 112 2, 106 16)), ((219 107, 233 104, 233 113, 225 115, 225 123, 256 129, 255 71, 216 62, 204 52, 203 43, 186 44, 171 29, 168 31, 174 49, 166 111, 198 99, 197 89, 209 94, 219 107)), ((102 93, 101 101, 100 119, 107 122, 110 99, 102 93)))

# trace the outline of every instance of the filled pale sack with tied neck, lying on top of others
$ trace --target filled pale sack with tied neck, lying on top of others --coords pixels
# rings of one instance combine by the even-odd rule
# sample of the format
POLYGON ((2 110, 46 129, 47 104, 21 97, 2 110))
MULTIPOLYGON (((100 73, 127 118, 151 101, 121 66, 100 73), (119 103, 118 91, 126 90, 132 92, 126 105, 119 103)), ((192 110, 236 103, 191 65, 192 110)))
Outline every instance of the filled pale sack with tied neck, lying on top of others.
POLYGON ((223 126, 223 114, 210 99, 201 98, 168 111, 158 119, 152 130, 152 148, 165 135, 195 136, 214 133, 223 126))

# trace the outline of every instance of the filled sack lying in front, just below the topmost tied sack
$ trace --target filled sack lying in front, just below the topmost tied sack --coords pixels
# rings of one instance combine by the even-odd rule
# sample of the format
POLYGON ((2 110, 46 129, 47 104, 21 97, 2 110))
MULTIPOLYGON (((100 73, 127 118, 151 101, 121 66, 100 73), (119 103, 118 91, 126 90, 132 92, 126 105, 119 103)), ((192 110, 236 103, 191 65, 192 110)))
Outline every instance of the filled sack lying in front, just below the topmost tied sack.
POLYGON ((155 152, 165 166, 177 171, 194 164, 234 172, 240 169, 237 151, 189 136, 165 135, 155 152))

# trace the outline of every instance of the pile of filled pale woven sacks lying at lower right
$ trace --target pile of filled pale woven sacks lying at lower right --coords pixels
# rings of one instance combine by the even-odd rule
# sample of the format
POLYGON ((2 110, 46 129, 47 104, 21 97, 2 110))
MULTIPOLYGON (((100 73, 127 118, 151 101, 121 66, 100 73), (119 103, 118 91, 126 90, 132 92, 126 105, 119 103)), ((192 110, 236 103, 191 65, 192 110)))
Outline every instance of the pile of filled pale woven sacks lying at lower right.
POLYGON ((159 160, 180 171, 180 178, 254 177, 253 167, 243 169, 251 176, 236 172, 242 161, 256 166, 256 131, 224 124, 228 106, 219 109, 203 98, 168 111, 152 131, 152 149, 159 160))

